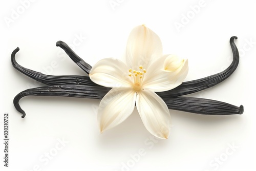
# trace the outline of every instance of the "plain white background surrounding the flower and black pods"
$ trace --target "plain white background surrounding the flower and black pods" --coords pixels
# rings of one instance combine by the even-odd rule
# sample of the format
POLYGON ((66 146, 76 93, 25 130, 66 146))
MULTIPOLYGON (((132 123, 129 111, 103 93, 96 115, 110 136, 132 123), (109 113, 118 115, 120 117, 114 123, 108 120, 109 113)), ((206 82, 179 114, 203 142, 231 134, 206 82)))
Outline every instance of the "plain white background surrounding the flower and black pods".
POLYGON ((1 1, 0 5, 1 130, 4 112, 9 113, 10 119, 9 167, 3 166, 1 143, 1 168, 256 169, 255 1, 114 0, 118 3, 114 7, 109 0, 22 2, 26 1, 1 1), (178 29, 177 23, 183 23, 182 27, 178 29), (26 68, 51 75, 86 75, 55 46, 56 41, 67 42, 81 58, 94 65, 106 57, 123 59, 130 31, 141 24, 159 35, 164 54, 189 60, 186 81, 229 66, 229 38, 238 36, 235 42, 241 57, 237 70, 214 88, 189 96, 243 104, 244 114, 204 116, 170 110, 172 131, 168 140, 158 140, 147 132, 137 110, 119 126, 100 134, 100 100, 96 99, 27 96, 20 100, 27 116, 22 119, 15 110, 12 101, 16 94, 43 85, 12 67, 10 55, 16 47, 20 48, 16 60, 26 68), (77 39, 79 36, 82 38, 77 39), (58 144, 59 139, 66 144, 58 144), (47 153, 51 159, 47 159, 47 153))

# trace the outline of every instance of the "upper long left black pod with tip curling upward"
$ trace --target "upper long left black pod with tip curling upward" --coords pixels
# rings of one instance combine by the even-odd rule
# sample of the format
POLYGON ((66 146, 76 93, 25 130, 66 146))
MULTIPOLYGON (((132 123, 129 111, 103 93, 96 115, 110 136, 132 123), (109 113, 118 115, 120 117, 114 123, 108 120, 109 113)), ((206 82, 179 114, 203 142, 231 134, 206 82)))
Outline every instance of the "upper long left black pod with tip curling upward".
POLYGON ((46 75, 40 72, 36 72, 25 67, 20 66, 15 60, 15 54, 19 51, 19 48, 16 48, 11 54, 11 62, 13 67, 19 72, 27 75, 28 77, 45 83, 47 85, 56 85, 56 84, 82 84, 88 86, 98 86, 96 83, 92 82, 88 76, 81 75, 64 75, 64 76, 55 76, 55 75, 46 75))

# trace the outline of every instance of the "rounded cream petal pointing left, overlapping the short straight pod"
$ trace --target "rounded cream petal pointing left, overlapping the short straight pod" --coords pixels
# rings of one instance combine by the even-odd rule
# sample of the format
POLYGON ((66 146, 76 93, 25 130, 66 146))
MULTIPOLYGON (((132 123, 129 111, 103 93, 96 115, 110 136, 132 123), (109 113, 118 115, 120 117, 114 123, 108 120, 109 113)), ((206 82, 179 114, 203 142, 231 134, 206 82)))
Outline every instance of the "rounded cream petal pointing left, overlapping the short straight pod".
POLYGON ((98 61, 90 71, 90 79, 104 87, 131 87, 132 80, 128 76, 129 68, 115 58, 98 61))

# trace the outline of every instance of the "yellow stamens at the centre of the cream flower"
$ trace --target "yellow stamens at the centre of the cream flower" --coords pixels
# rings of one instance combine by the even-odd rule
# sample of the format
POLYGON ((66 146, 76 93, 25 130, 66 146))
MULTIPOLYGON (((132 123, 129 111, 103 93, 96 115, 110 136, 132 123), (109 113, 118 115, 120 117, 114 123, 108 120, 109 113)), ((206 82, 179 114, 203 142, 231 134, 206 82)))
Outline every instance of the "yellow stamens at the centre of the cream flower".
POLYGON ((143 69, 142 66, 139 66, 139 68, 140 68, 139 71, 129 69, 129 76, 130 77, 132 76, 134 78, 133 88, 136 91, 141 89, 144 73, 146 73, 146 70, 143 69))

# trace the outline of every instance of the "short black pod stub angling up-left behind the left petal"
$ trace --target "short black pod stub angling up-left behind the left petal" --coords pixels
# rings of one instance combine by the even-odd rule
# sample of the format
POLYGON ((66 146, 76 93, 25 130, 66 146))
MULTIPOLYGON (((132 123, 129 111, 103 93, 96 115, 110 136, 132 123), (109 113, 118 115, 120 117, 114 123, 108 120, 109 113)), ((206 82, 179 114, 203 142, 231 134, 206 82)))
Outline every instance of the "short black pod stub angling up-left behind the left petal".
POLYGON ((78 65, 84 72, 87 74, 90 73, 92 66, 90 66, 87 62, 82 60, 65 42, 63 41, 57 41, 56 46, 59 46, 62 48, 69 57, 78 65))

